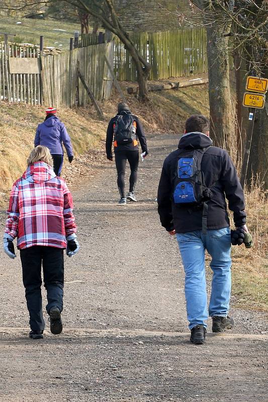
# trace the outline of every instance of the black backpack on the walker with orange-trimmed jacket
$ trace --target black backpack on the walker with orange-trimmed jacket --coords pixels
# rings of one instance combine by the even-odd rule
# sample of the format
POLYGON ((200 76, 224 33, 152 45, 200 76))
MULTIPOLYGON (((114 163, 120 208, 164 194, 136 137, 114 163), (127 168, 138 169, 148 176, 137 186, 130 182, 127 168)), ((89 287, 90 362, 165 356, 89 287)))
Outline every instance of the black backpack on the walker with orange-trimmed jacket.
POLYGON ((114 140, 118 145, 131 144, 136 140, 136 125, 134 117, 130 113, 117 116, 114 123, 114 140))

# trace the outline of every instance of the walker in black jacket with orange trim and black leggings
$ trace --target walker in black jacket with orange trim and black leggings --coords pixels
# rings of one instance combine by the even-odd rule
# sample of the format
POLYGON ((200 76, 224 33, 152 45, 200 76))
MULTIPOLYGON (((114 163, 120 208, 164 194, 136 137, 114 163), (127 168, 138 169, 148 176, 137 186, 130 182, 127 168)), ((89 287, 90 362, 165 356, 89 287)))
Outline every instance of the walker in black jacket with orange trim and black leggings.
MULTIPOLYGON (((114 140, 114 129, 118 117, 120 115, 129 114, 132 115, 129 107, 124 104, 118 104, 118 113, 115 117, 113 117, 108 125, 107 129, 107 136, 106 136, 106 154, 109 160, 113 160, 113 153, 112 153, 112 144, 114 140)), ((133 116, 134 126, 136 129, 136 138, 130 144, 117 144, 114 141, 114 152, 115 152, 115 162, 117 168, 117 185, 120 192, 120 200, 119 204, 126 205, 127 199, 130 201, 136 202, 137 199, 135 197, 134 191, 135 186, 137 183, 137 172, 138 172, 138 165, 139 165, 139 146, 138 141, 140 142, 142 152, 145 153, 144 157, 148 155, 148 148, 146 143, 146 138, 144 135, 143 127, 137 118, 137 116, 133 116), (130 177, 129 177, 129 192, 125 194, 125 173, 126 173, 126 162, 129 162, 130 165, 130 177)))

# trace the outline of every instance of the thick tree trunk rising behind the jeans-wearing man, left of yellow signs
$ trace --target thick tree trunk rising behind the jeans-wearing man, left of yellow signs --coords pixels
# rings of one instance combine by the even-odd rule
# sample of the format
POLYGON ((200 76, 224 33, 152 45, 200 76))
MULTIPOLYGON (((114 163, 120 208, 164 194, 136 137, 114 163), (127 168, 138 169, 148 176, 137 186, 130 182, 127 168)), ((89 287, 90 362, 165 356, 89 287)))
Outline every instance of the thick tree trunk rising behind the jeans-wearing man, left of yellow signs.
POLYGON ((222 24, 207 28, 207 53, 209 70, 209 105, 211 137, 216 146, 234 156, 234 116, 231 105, 229 81, 228 39, 222 24))

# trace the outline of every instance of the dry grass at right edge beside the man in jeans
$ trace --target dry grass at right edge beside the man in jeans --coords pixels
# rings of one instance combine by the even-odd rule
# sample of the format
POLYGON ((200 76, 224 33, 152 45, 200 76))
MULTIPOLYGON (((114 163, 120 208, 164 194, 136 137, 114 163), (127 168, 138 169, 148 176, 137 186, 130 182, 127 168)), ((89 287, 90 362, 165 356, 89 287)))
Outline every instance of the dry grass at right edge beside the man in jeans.
POLYGON ((268 311, 267 191, 253 185, 245 191, 247 226, 254 247, 232 247, 233 293, 236 305, 268 311))

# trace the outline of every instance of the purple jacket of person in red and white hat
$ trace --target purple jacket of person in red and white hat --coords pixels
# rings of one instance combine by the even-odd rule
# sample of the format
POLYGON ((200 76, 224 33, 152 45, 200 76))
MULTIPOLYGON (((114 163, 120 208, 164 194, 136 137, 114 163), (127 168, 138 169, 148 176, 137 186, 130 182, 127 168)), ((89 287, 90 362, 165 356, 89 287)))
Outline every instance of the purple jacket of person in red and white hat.
POLYGON ((34 139, 35 147, 44 145, 49 148, 51 154, 63 155, 62 143, 67 155, 72 156, 70 137, 64 124, 56 116, 51 116, 38 125, 34 139))

